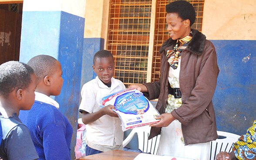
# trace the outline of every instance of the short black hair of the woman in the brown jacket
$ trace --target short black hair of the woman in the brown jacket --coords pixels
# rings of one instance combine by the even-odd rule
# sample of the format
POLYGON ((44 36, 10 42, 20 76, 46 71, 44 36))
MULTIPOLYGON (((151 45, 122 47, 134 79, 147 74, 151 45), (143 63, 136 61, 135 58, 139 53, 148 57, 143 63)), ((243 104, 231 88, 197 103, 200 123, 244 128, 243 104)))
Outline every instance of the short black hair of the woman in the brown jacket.
POLYGON ((190 26, 195 23, 195 9, 191 3, 185 0, 177 0, 166 5, 167 13, 178 13, 182 20, 189 20, 190 26))

